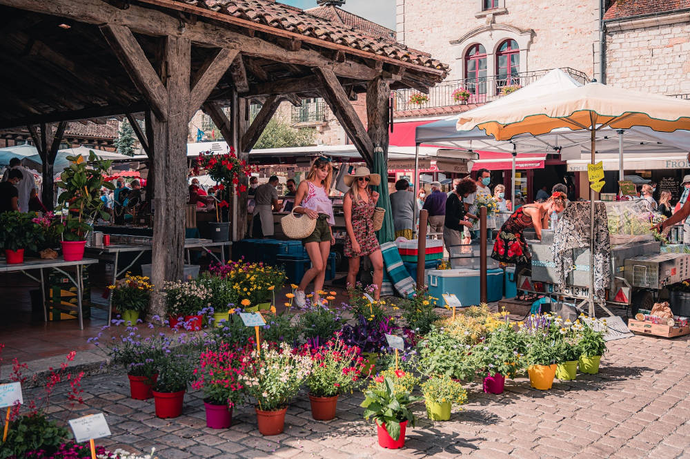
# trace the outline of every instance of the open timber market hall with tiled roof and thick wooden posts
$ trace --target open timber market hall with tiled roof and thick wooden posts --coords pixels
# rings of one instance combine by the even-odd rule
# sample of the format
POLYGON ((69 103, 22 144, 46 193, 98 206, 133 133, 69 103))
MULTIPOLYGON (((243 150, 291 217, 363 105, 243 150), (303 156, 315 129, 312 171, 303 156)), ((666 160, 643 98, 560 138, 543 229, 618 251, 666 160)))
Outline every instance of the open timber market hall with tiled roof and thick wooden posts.
MULTIPOLYGON (((375 146, 387 152, 390 91, 428 92, 449 70, 273 0, 0 0, 0 14, 0 55, 11 63, 0 70, 0 129, 28 128, 44 179, 66 121, 145 119, 137 136, 152 170, 155 285, 182 275, 186 136, 199 108, 242 158, 281 101, 324 97, 371 166, 375 146), (366 127, 351 105, 358 95, 366 127), (262 108, 250 123, 253 103, 262 108)), ((235 224, 233 240, 242 237, 235 224)))

